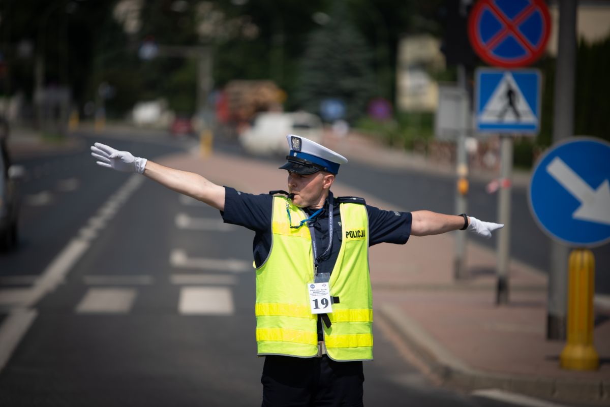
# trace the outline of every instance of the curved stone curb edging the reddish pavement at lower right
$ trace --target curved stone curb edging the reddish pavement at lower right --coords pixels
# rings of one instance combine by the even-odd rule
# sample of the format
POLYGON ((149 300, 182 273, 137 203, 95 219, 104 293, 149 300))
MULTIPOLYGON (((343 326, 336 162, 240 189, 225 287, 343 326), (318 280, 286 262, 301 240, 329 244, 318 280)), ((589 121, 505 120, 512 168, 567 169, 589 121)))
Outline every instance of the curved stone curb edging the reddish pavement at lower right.
POLYGON ((384 304, 381 314, 445 386, 474 391, 497 388, 547 400, 607 406, 609 380, 566 380, 531 375, 503 375, 473 369, 432 338, 396 306, 384 304))

